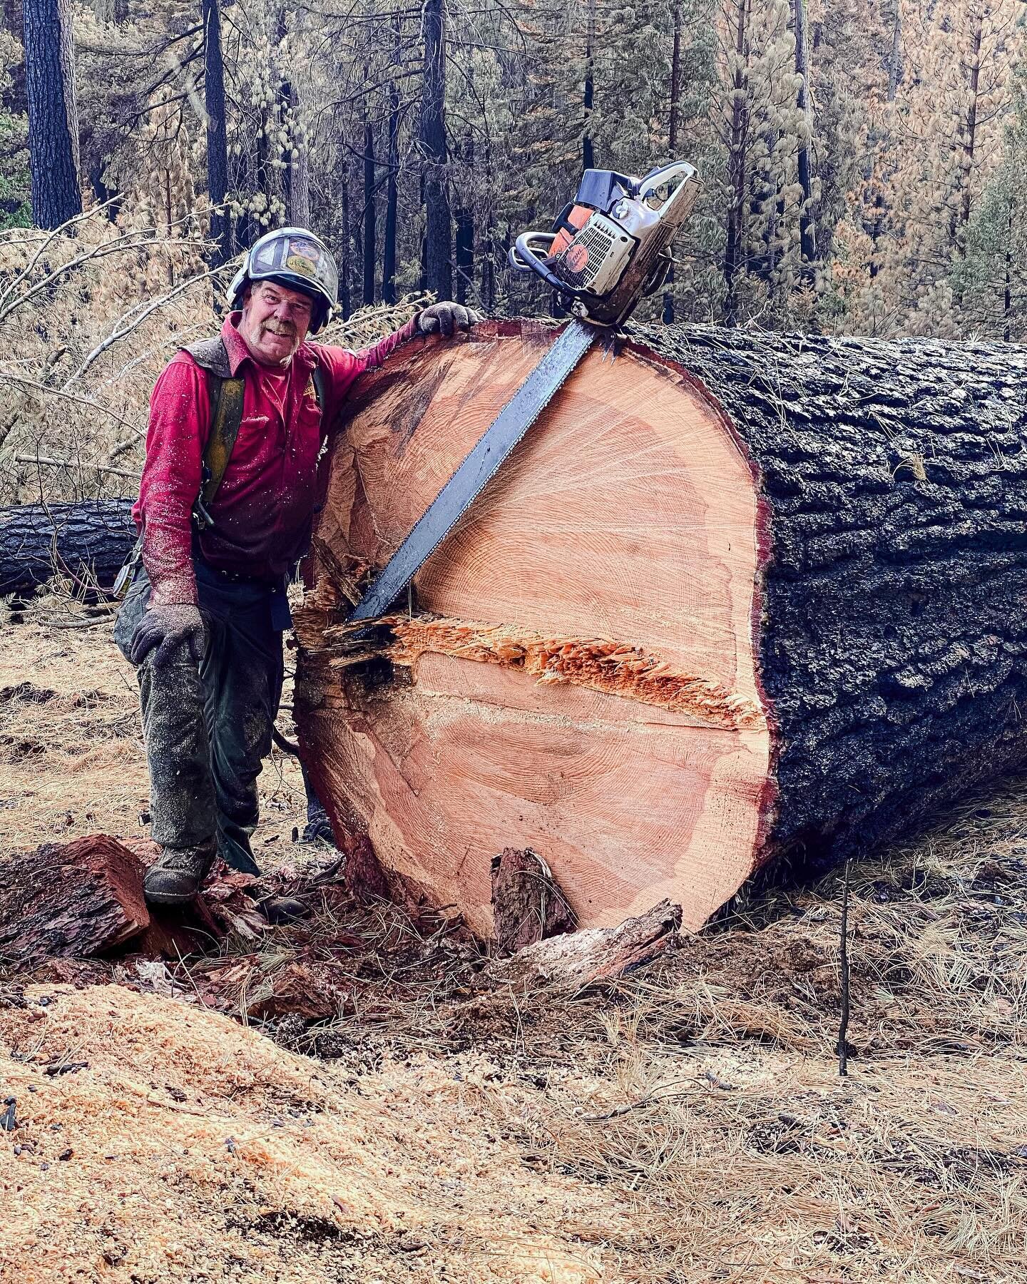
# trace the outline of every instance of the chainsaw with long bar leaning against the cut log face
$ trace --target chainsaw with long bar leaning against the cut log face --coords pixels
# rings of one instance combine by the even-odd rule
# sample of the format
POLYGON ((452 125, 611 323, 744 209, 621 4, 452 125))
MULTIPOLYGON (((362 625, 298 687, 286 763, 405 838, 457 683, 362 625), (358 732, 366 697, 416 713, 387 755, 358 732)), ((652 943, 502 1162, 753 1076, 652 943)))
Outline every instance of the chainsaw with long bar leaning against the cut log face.
POLYGON ((470 455, 365 592, 348 623, 376 620, 412 583, 431 553, 535 422, 600 334, 616 331, 670 271, 670 244, 698 194, 684 160, 632 178, 585 169, 578 195, 551 231, 521 234, 510 266, 534 272, 573 320, 503 406, 470 455))

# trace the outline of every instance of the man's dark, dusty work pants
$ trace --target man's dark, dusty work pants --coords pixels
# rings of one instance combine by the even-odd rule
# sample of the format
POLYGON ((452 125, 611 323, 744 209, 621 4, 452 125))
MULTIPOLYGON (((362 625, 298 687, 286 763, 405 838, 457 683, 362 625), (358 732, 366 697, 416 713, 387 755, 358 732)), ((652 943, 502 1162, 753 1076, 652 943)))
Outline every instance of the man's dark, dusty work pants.
MULTIPOLYGON (((182 646, 171 664, 154 668, 151 651, 137 669, 150 832, 168 847, 217 837, 222 860, 258 873, 249 840, 258 818, 257 777, 271 752, 281 700, 281 624, 272 620, 272 600, 284 605, 282 591, 232 583, 202 562, 196 591, 207 628, 199 668, 182 646)), ((149 597, 140 570, 114 627, 122 652, 149 597)))

